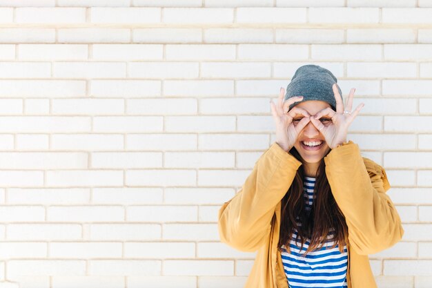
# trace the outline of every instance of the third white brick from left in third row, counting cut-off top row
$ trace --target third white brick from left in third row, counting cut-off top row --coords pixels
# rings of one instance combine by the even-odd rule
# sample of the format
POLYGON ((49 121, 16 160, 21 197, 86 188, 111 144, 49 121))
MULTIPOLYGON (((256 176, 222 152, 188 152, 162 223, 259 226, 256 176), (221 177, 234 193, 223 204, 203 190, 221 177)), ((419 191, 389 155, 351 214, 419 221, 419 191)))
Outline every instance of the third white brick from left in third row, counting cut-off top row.
POLYGON ((137 28, 132 30, 132 42, 186 44, 201 43, 202 29, 197 28, 137 28))

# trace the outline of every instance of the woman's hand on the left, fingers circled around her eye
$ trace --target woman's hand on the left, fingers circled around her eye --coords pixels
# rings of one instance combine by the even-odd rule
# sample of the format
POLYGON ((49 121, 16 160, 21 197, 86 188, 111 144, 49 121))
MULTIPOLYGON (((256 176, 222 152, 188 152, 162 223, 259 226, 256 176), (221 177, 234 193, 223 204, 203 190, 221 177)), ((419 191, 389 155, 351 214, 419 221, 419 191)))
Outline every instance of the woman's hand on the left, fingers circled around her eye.
POLYGON ((300 131, 311 121, 309 117, 311 115, 309 115, 306 110, 297 106, 294 106, 291 111, 288 112, 289 106, 295 102, 302 101, 303 96, 291 97, 287 99, 286 102, 282 103, 284 96, 285 89, 280 88, 277 104, 274 104, 273 101, 270 100, 270 106, 276 125, 276 143, 279 144, 284 151, 288 152, 293 148, 300 131), (302 119, 299 121, 297 118, 302 119))

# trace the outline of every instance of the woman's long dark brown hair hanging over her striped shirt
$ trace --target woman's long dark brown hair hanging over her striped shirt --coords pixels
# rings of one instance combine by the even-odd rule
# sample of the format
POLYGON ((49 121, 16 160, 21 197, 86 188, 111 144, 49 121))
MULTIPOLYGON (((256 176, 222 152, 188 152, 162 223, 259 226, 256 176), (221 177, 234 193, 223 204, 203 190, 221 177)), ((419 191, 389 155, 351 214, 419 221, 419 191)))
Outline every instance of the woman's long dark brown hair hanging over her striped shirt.
MULTIPOLYGON (((303 162, 302 157, 294 147, 291 148, 290 153, 297 160, 303 162)), ((333 248, 339 245, 339 250, 342 253, 344 244, 348 242, 348 227, 346 227, 345 217, 331 193, 330 184, 328 184, 326 177, 324 158, 317 169, 313 191, 315 198, 309 213, 305 209, 303 181, 304 169, 302 165, 297 170, 293 183, 284 198, 282 198, 279 249, 284 244, 286 249, 290 251, 290 240, 294 235, 293 229, 297 229, 297 237, 293 238, 295 242, 302 243, 301 247, 303 248, 306 240, 310 241, 304 256, 309 251, 322 248, 329 233, 334 233, 333 248)))

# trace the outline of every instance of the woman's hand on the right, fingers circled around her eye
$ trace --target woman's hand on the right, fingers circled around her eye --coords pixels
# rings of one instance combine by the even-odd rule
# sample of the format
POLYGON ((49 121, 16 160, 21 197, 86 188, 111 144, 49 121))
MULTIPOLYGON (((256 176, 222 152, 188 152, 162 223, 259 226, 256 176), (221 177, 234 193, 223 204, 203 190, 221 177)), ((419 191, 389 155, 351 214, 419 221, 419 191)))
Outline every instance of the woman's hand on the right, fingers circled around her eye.
POLYGON ((337 90, 336 84, 333 84, 333 94, 336 99, 336 112, 333 111, 332 108, 328 107, 318 112, 315 116, 311 116, 312 124, 322 133, 322 135, 324 135, 327 145, 331 149, 346 142, 348 127, 364 106, 364 104, 361 103, 357 108, 355 108, 355 111, 351 112, 353 108, 354 92, 355 88, 351 88, 344 110, 342 97, 339 94, 339 90, 337 90), (331 118, 331 122, 328 121, 328 124, 326 124, 326 122, 321 122, 320 118, 323 116, 331 118))

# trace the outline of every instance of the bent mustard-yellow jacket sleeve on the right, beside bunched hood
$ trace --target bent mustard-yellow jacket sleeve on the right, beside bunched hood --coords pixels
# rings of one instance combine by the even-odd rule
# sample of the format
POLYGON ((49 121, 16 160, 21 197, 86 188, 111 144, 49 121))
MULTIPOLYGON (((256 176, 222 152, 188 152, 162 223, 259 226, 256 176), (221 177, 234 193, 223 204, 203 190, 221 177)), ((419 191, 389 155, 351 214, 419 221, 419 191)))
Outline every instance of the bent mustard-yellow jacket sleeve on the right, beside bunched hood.
POLYGON ((331 191, 345 216, 351 247, 367 255, 402 239, 404 229, 386 195, 390 184, 382 166, 362 158, 352 141, 333 148, 324 161, 331 191))

